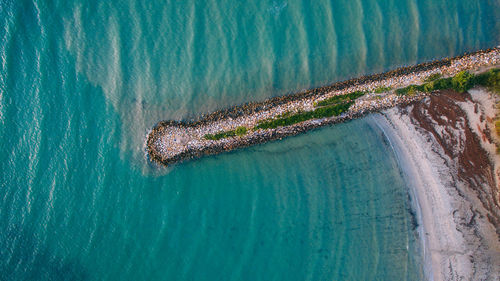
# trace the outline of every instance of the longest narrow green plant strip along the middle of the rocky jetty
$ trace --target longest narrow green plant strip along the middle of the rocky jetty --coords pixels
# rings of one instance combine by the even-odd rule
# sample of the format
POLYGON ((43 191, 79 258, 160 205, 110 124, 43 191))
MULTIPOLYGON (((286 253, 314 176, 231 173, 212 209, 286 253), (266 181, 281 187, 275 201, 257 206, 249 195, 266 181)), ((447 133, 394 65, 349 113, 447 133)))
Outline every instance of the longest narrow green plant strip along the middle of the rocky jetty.
POLYGON ((315 110, 311 111, 299 111, 293 114, 287 113, 277 119, 264 120, 259 122, 259 124, 254 127, 254 130, 274 129, 281 126, 290 126, 311 119, 338 116, 346 112, 353 103, 353 101, 348 101, 340 104, 316 108, 315 110))

